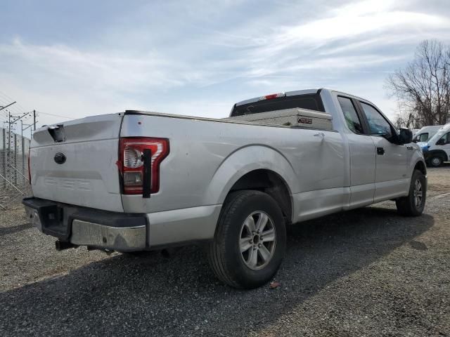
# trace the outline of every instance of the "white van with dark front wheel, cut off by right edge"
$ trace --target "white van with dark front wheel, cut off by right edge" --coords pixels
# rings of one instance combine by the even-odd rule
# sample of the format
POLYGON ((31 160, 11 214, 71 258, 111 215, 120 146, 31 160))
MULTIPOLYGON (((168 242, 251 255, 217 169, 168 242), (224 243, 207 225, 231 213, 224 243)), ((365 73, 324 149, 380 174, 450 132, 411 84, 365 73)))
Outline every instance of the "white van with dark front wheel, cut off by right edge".
POLYGON ((450 159, 450 123, 445 124, 422 147, 425 160, 430 166, 441 166, 450 159))

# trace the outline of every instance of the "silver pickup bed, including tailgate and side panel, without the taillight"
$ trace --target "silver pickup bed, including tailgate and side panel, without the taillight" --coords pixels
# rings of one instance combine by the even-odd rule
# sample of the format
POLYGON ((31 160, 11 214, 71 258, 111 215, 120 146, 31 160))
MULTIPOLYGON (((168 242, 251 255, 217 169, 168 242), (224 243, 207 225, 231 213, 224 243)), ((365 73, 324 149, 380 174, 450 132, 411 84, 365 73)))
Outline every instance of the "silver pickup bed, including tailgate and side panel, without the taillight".
POLYGON ((221 204, 226 192, 218 191, 214 184, 222 180, 232 183, 240 168, 229 166, 226 162, 231 161, 226 159, 239 161, 240 156, 254 157, 256 169, 291 170, 285 176, 293 177, 289 182, 293 194, 317 186, 342 187, 345 179, 342 139, 335 131, 326 131, 324 144, 314 136, 317 131, 309 128, 134 110, 77 119, 64 123, 63 128, 66 138, 60 143, 51 138, 48 127, 34 134, 30 161, 35 197, 134 213, 221 204), (160 191, 151 199, 121 194, 116 164, 120 137, 170 140, 170 153, 161 164, 160 191), (304 145, 301 154, 295 151, 299 144, 304 145), (53 160, 57 152, 68 158, 65 165, 53 160), (312 161, 311 157, 318 159, 312 161), (334 166, 317 170, 321 157, 333 161, 334 166), (301 170, 295 164, 299 161, 301 170), (304 170, 316 171, 316 176, 295 180, 304 170), (219 181, 214 183, 216 179, 219 181))

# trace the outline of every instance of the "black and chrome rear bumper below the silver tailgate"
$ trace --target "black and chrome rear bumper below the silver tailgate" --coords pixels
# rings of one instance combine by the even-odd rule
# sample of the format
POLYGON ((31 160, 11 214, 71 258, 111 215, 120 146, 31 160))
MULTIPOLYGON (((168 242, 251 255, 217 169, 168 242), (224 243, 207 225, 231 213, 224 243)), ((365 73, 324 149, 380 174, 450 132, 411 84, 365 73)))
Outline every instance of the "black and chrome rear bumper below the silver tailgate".
POLYGON ((37 229, 62 242, 117 251, 148 249, 146 214, 100 211, 34 197, 23 199, 23 204, 37 229))

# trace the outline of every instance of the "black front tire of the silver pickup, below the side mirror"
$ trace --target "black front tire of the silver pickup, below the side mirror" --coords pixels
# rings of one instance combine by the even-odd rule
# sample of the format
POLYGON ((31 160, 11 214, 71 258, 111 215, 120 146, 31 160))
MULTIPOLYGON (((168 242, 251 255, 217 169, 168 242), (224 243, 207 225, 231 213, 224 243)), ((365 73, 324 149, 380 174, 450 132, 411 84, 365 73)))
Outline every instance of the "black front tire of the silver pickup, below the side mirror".
POLYGON ((411 177, 411 185, 409 186, 409 194, 406 197, 401 197, 395 201, 397 211, 402 216, 420 216, 425 207, 427 199, 427 183, 422 172, 415 170, 411 177), (419 182, 422 190, 422 198, 420 204, 416 203, 416 182, 419 182))

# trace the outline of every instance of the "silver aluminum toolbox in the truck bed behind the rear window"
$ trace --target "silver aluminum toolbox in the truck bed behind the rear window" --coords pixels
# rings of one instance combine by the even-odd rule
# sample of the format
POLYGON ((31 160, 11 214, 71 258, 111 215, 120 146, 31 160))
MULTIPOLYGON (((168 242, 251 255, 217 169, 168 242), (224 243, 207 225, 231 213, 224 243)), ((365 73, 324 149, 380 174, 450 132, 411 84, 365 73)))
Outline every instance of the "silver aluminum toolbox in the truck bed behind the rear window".
POLYGON ((321 128, 333 130, 331 115, 307 109, 285 109, 269 112, 258 112, 256 114, 245 114, 242 116, 229 117, 227 119, 237 121, 255 121, 264 124, 276 124, 283 126, 302 126, 304 128, 321 128))

